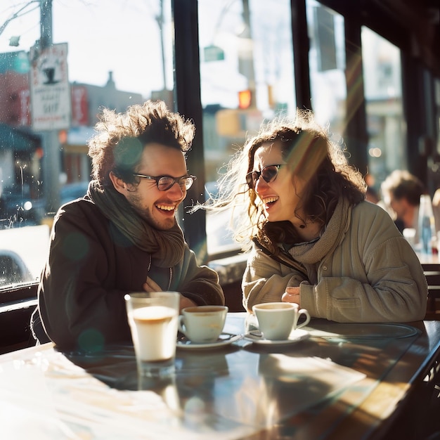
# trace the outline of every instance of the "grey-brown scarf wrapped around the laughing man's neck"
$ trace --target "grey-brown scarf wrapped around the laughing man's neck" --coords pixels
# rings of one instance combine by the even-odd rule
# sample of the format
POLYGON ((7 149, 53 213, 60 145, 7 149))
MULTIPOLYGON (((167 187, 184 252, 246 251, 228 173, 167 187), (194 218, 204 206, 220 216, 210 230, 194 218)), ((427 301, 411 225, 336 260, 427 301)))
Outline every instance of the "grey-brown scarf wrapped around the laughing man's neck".
POLYGON ((183 259, 185 240, 177 223, 167 231, 153 228, 115 188, 104 188, 96 180, 89 183, 87 195, 135 246, 152 254, 156 266, 172 267, 183 259))

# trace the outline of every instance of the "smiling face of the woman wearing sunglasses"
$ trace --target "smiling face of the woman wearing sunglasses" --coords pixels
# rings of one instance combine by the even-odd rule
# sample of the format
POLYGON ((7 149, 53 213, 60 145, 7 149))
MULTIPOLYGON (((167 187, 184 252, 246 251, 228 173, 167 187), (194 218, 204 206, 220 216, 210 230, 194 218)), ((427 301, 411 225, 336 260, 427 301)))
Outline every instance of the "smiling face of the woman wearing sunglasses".
MULTIPOLYGON (((290 221, 294 226, 303 224, 304 221, 295 216, 295 210, 300 202, 299 194, 302 193, 304 183, 297 176, 283 166, 286 160, 281 150, 281 141, 266 142, 261 144, 254 153, 254 167, 252 171, 261 172, 268 165, 282 166, 276 177, 266 182, 260 176, 255 183, 255 192, 264 205, 264 212, 268 221, 290 221)), ((299 210, 298 214, 302 214, 299 210)))

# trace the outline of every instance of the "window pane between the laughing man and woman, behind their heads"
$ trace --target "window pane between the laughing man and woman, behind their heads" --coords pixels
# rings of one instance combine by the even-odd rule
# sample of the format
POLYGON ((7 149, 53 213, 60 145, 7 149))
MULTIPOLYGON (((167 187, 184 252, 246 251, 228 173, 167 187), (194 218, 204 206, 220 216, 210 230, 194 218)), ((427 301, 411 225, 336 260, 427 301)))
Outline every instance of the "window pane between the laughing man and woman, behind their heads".
MULTIPOLYGON (((207 190, 263 119, 295 113, 289 0, 200 0, 200 76, 207 190)), ((207 215, 208 253, 233 245, 229 214, 207 215)))

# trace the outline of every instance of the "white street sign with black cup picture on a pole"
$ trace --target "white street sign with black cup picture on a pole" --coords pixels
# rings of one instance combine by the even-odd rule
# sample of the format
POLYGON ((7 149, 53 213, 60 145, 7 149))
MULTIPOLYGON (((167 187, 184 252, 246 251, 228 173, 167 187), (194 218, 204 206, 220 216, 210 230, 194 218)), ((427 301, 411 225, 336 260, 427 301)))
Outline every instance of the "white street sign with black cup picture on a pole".
POLYGON ((67 43, 53 44, 43 51, 32 47, 30 57, 32 128, 67 129, 71 112, 67 43))

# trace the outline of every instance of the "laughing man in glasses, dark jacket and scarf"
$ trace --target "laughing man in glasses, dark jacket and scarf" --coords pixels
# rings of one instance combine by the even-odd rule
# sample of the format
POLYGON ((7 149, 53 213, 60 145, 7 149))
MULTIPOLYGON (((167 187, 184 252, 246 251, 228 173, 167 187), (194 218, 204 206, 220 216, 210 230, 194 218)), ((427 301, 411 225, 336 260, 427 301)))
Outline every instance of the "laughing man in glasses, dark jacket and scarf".
POLYGON ((131 341, 127 292, 176 290, 181 309, 224 304, 216 272, 198 266, 176 222, 195 180, 185 158, 193 124, 148 101, 105 109, 96 131, 93 180, 56 214, 32 316, 34 337, 62 348, 131 341))

